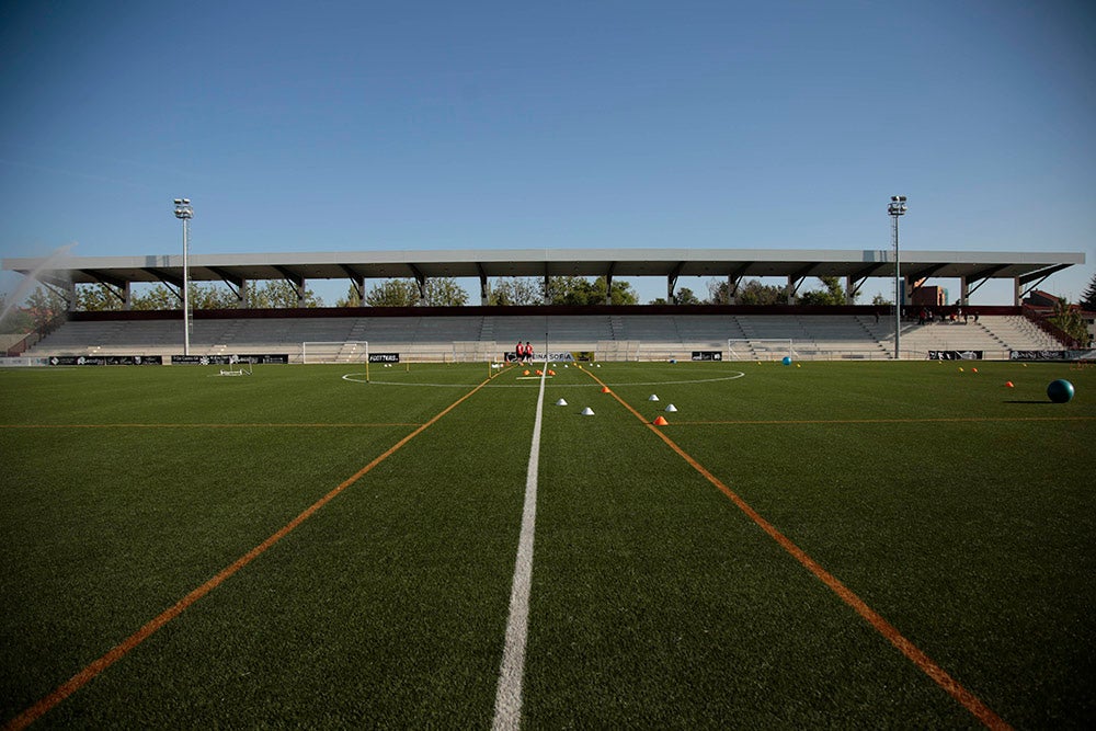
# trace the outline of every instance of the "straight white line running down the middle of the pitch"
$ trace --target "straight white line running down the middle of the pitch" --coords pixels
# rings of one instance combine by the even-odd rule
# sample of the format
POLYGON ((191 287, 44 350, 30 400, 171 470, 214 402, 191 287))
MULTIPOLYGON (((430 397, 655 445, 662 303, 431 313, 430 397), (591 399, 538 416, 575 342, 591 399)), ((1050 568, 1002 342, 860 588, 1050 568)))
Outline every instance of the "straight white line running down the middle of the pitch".
POLYGON ((545 374, 540 376, 537 416, 533 423, 529 467, 525 473, 525 505, 522 507, 522 534, 517 539, 514 586, 510 592, 510 619, 506 643, 499 669, 499 689, 494 697, 494 731, 514 730, 522 722, 522 679, 525 674, 525 639, 529 627, 529 590, 533 580, 533 534, 537 522, 537 469, 540 464, 540 421, 545 406, 545 374))

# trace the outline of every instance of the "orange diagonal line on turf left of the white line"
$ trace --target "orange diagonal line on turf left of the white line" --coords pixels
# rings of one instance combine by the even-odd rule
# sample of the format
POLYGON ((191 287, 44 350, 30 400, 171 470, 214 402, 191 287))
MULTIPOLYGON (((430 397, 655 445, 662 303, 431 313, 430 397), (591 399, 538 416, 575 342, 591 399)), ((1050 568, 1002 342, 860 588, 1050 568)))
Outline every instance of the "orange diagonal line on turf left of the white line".
POLYGON ((453 411, 461 402, 464 402, 466 399, 468 399, 473 393, 476 393, 476 391, 478 391, 481 388, 483 388, 483 386, 486 386, 489 381, 490 381, 490 378, 487 379, 487 380, 484 380, 479 386, 477 386, 472 390, 468 391, 464 396, 461 396, 459 399, 457 399, 456 401, 454 401, 449 406, 447 406, 439 413, 437 413, 435 416, 433 416, 430 421, 427 421, 424 424, 422 424, 421 426, 419 426, 416 430, 414 430, 413 432, 411 432, 410 434, 408 434, 407 436, 404 436, 402 439, 400 439, 399 442, 397 442, 396 444, 393 444, 391 447, 389 447, 379 457, 377 457, 376 459, 374 459, 373 461, 370 461, 368 465, 366 465, 365 467, 363 467, 362 469, 359 469, 358 471, 356 471, 351 477, 346 478, 334 490, 332 490, 331 492, 329 492, 328 494, 323 495, 322 498, 320 498, 319 500, 317 500, 315 503, 312 503, 311 505, 309 505, 307 509, 305 509, 305 511, 302 513, 300 513, 300 515, 298 515, 297 517, 295 517, 292 521, 289 521, 287 524, 285 524, 285 526, 283 526, 281 529, 278 529, 273 535, 271 535, 266 540, 264 540, 263 542, 259 544, 258 546, 255 546, 254 548, 252 548, 250 551, 248 551, 247 553, 244 553, 240 558, 236 559, 236 561, 233 561, 231 564, 229 564, 228 567, 226 567, 225 569, 222 569, 220 572, 218 572, 213 579, 210 579, 209 581, 205 582, 204 584, 202 584, 201 586, 198 586, 197 589, 195 589, 194 591, 192 591, 190 594, 187 594, 186 596, 184 596, 183 598, 181 598, 179 602, 176 602, 173 606, 171 606, 168 609, 165 609, 164 612, 162 612, 155 619, 152 619, 151 621, 149 621, 148 624, 146 624, 144 627, 141 627, 140 629, 138 629, 136 632, 134 632, 133 635, 130 635, 129 637, 127 637, 121 643, 116 644, 114 648, 112 648, 104 655, 102 655, 98 660, 93 661, 87 667, 84 667, 79 673, 77 673, 76 675, 73 675, 66 683, 62 683, 60 686, 58 686, 48 696, 42 698, 36 704, 34 704, 33 706, 31 706, 30 708, 27 708, 26 710, 24 710, 22 713, 20 713, 19 716, 16 716, 7 726, 4 726, 4 731, 15 731, 16 729, 25 729, 27 726, 30 726, 31 723, 33 723, 34 721, 36 721, 43 715, 47 713, 50 709, 53 709, 54 707, 56 707, 57 704, 61 703, 62 700, 65 700, 66 698, 68 698, 70 695, 72 695, 73 693, 76 693, 77 690, 79 690, 81 687, 83 687, 84 685, 87 685, 96 675, 99 675, 104 670, 106 670, 107 667, 110 667, 111 665, 113 665, 114 663, 116 663, 118 660, 121 660, 122 658, 124 658, 126 654, 128 654, 138 644, 140 644, 141 642, 144 642, 145 640, 147 640, 158 629, 160 629, 161 627, 163 627, 164 625, 167 625, 169 621, 171 621, 172 619, 174 619, 179 615, 181 615, 184 610, 186 610, 187 607, 190 607, 192 604, 194 604, 195 602, 197 602, 198 599, 201 599, 202 597, 204 597, 206 594, 208 594, 209 592, 212 592, 214 589, 216 589, 218 585, 220 585, 226 579, 230 578, 237 571, 239 571, 240 569, 242 569, 243 567, 248 566, 253 560, 255 560, 256 558, 259 558, 260 556, 262 556, 274 544, 276 544, 277 541, 279 541, 283 538, 285 538, 297 526, 299 526, 301 523, 304 523, 309 517, 311 517, 318 510, 320 510, 321 507, 323 507, 324 505, 327 505, 329 502, 331 502, 331 500, 333 500, 335 498, 335 495, 338 495, 343 490, 345 490, 346 488, 349 488, 352 484, 354 484, 355 482, 357 482, 359 479, 362 479, 362 477, 364 477, 367 472, 369 472, 374 467, 376 467, 380 462, 383 462, 386 459, 388 459, 389 457, 391 457, 397 450, 400 449, 400 447, 402 447, 403 445, 406 445, 408 442, 410 442, 411 439, 413 439, 418 435, 422 434, 424 431, 426 431, 426 429, 429 429, 434 423, 436 423, 439 419, 442 419, 442 416, 444 416, 445 414, 447 414, 450 411, 453 411))

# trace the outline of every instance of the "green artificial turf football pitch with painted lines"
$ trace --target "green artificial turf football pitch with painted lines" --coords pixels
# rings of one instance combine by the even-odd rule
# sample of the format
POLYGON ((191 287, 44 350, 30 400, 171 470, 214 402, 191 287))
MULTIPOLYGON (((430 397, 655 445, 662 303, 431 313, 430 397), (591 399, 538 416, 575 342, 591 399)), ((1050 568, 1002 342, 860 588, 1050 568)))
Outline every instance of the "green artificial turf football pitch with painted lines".
MULTIPOLYGON (((1096 368, 974 367, 557 365, 522 726, 1091 728, 1096 368)), ((0 370, 0 722, 490 727, 540 380, 217 372, 0 370)))

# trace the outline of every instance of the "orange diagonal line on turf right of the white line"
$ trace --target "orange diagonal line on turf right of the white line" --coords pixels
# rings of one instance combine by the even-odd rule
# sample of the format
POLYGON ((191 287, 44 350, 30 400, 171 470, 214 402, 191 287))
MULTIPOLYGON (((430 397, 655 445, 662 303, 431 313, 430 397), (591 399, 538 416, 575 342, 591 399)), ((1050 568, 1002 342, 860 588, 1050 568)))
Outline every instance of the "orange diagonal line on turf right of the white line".
MULTIPOLYGON (((591 378, 596 380, 603 387, 605 384, 595 375, 586 372, 591 378)), ((958 681, 948 675, 947 671, 936 664, 936 662, 925 654, 917 646, 906 639, 898 629, 887 621, 882 615, 872 609, 867 603, 861 599, 853 590, 848 589, 843 584, 836 576, 826 571, 822 566, 812 559, 807 551, 799 548, 790 538, 785 536, 780 530, 774 526, 772 523, 766 521, 762 515, 755 511, 745 500, 743 500, 738 493, 727 487, 718 477, 709 472, 700 462, 693 458, 692 455, 682 449, 677 444, 671 439, 669 436, 662 433, 662 431, 648 423, 647 419, 639 413, 636 409, 631 407, 627 401, 617 396, 616 391, 609 391, 625 409, 630 411, 637 419, 639 419, 643 424, 659 435, 666 445, 673 449, 682 459, 684 459, 688 465, 699 472, 706 480, 716 486, 720 492, 727 495, 731 502, 733 502, 739 510, 745 513, 751 521, 757 524, 762 530, 767 533, 770 538, 773 538, 777 544, 780 545, 784 550, 790 553, 797 561, 799 561, 808 571, 813 573, 818 579, 822 581, 826 586, 829 586, 837 596, 842 598, 848 606, 856 610, 864 619, 870 624, 876 631, 882 635, 887 640, 898 648, 906 658, 909 658, 922 672, 924 672, 928 677, 931 677, 938 686, 946 690, 952 698, 958 700, 964 708, 967 708, 971 713, 978 718, 983 724, 991 729, 1011 729, 1000 716, 997 716, 993 710, 982 703, 973 693, 964 688, 959 684, 958 681)))

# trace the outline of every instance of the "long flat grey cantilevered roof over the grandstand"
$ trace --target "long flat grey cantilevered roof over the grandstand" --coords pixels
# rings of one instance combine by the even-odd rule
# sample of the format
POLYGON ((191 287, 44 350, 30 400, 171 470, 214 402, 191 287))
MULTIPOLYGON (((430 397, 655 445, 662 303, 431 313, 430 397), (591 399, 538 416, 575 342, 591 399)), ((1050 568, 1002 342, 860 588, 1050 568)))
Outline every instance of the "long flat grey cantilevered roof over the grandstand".
MULTIPOLYGON (((1035 282, 1074 264, 1084 253, 989 251, 902 251, 901 273, 910 279, 1017 278, 1035 282)), ((504 276, 678 276, 893 277, 891 250, 760 249, 480 249, 358 251, 328 253, 198 254, 187 262, 195 281, 342 279, 389 277, 504 276)), ((73 282, 123 286, 183 277, 182 254, 4 259, 3 269, 54 284, 73 282), (41 271, 39 271, 41 270, 41 271)))

